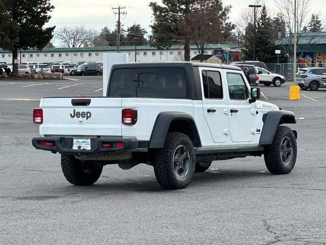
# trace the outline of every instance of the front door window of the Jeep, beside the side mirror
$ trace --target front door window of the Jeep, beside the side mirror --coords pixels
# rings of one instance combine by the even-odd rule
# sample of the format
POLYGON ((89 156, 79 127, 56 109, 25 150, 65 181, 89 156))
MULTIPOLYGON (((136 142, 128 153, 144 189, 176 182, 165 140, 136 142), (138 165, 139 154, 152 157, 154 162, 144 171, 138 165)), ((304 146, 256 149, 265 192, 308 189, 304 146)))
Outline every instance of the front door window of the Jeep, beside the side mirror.
POLYGON ((226 75, 231 100, 247 100, 249 97, 246 83, 240 74, 227 73, 226 75))

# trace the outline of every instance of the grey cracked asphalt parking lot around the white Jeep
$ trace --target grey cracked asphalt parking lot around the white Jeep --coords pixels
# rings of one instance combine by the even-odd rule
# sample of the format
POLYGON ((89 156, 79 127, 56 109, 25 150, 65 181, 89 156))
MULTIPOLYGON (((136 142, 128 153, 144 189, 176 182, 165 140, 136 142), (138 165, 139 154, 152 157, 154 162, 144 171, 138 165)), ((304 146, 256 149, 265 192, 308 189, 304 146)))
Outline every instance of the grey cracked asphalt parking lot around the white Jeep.
POLYGON ((326 244, 326 89, 289 101, 290 82, 261 86, 261 100, 297 118, 289 175, 269 174, 262 157, 215 161, 171 191, 144 164, 73 186, 59 154, 33 148, 41 97, 102 95, 102 77, 72 79, 0 80, 0 244, 326 244))

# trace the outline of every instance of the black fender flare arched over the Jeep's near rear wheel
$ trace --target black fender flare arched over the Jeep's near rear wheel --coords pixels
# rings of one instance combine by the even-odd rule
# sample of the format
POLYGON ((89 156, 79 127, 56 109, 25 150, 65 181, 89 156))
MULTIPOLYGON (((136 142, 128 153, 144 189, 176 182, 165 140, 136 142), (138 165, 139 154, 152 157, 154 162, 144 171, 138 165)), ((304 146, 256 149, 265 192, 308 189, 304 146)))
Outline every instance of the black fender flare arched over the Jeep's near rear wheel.
MULTIPOLYGON (((157 115, 152 134, 149 140, 149 148, 162 148, 167 137, 170 125, 173 121, 185 121, 191 131, 186 132, 192 139, 195 147, 201 147, 200 136, 198 133, 195 119, 192 115, 179 111, 165 111, 157 115)), ((184 132, 185 133, 185 132, 184 132)))

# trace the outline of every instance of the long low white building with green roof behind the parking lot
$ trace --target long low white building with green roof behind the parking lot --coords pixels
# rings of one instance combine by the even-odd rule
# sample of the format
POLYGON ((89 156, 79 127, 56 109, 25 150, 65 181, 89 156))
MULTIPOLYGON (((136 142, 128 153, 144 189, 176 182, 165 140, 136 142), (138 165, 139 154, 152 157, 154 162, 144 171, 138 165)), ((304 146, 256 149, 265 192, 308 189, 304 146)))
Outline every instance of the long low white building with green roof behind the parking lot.
MULTIPOLYGON (((230 45, 209 44, 205 54, 211 54, 214 48, 228 48, 230 45)), ((191 58, 198 55, 196 45, 190 47, 191 58)), ((172 45, 170 48, 158 50, 151 46, 120 46, 121 53, 128 53, 129 61, 149 62, 149 61, 183 61, 183 45, 172 45)), ((89 62, 103 61, 103 53, 117 53, 116 46, 108 47, 53 47, 38 50, 21 50, 18 51, 20 62, 89 62)), ((12 54, 10 51, 0 49, 0 63, 11 63, 12 54)))

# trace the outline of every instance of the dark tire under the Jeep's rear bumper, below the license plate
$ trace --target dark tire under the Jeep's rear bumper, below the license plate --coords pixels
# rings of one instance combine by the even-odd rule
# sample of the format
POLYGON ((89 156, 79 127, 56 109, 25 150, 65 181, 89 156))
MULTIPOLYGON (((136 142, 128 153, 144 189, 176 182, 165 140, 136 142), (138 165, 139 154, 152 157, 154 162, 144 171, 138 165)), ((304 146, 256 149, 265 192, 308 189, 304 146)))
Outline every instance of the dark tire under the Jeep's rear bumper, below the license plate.
POLYGON ((72 155, 61 155, 61 167, 67 181, 73 185, 92 185, 102 173, 103 166, 81 161, 72 155))

